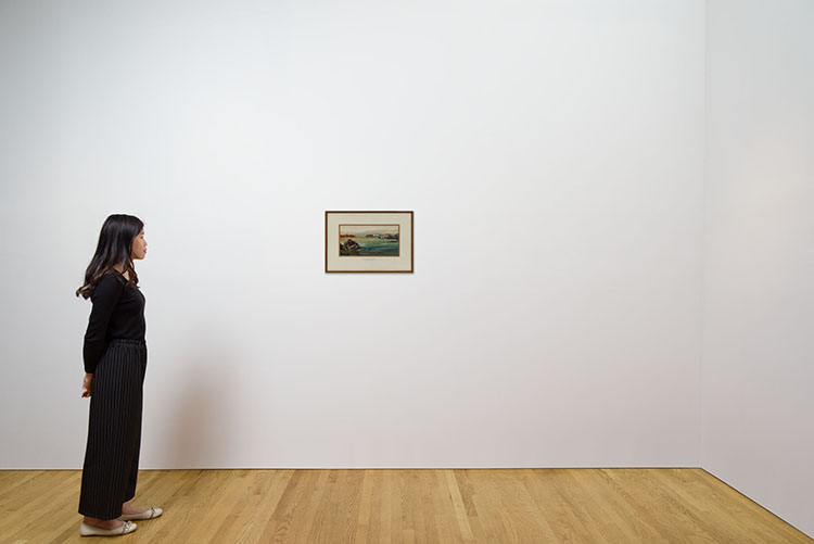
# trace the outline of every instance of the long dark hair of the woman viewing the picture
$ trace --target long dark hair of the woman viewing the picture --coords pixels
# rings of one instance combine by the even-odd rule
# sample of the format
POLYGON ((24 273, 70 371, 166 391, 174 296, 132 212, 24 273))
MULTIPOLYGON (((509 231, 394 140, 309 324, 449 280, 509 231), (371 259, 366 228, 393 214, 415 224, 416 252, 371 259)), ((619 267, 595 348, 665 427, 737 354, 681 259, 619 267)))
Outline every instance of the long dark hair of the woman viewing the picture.
POLYGON ((138 284, 139 277, 132 265, 132 241, 139 236, 144 224, 132 215, 114 214, 107 217, 99 232, 97 252, 85 270, 85 283, 76 290, 77 296, 88 299, 99 280, 116 265, 122 265, 127 273, 128 284, 138 284))

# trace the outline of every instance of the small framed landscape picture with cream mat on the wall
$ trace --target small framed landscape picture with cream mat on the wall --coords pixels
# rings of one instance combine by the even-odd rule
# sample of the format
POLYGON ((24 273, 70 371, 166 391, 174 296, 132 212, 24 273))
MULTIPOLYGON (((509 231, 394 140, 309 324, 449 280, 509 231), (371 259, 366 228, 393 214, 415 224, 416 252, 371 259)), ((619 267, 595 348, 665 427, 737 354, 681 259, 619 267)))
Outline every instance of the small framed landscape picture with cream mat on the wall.
POLYGON ((325 213, 325 271, 412 271, 412 212, 325 213))

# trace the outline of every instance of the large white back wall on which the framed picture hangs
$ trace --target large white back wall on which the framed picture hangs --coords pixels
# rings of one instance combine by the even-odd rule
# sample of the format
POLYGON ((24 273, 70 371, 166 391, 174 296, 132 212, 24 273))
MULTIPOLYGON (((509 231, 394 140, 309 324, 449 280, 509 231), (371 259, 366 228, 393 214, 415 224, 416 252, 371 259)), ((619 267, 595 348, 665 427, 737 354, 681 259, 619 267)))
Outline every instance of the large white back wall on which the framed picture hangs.
POLYGON ((698 465, 703 2, 5 1, 0 73, 2 468, 81 466, 110 213, 142 468, 698 465))

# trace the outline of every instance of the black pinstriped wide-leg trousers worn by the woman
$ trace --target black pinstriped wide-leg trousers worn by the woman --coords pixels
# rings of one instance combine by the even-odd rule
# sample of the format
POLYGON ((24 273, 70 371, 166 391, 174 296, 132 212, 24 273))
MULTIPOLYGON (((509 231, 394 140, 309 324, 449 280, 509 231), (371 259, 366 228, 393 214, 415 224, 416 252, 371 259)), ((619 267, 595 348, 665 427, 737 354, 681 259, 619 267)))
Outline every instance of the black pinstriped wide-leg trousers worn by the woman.
POLYGON ((114 339, 93 375, 79 514, 115 519, 136 494, 147 343, 114 339))

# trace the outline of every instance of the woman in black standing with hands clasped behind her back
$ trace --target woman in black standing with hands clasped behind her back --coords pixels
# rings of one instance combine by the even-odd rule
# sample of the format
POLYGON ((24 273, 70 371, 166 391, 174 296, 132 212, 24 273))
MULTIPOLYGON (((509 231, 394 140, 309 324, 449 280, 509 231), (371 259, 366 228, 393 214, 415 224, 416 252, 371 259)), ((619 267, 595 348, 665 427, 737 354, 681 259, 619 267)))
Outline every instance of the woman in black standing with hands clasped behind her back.
POLYGON ((133 519, 161 516, 161 508, 130 504, 141 446, 141 402, 147 344, 144 295, 133 261, 147 255, 144 224, 111 215, 76 295, 90 298, 85 333, 82 397, 90 397, 88 445, 79 514, 82 536, 113 536, 136 530, 133 519))

